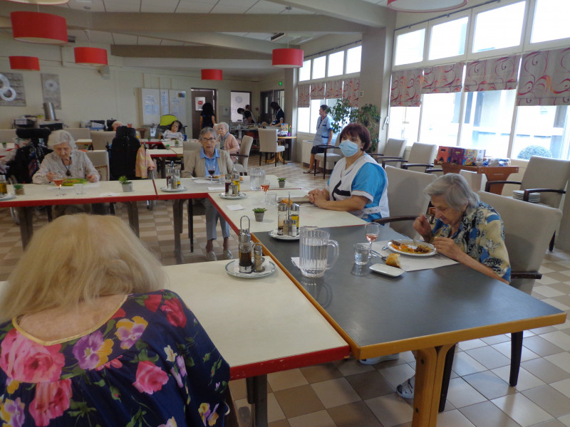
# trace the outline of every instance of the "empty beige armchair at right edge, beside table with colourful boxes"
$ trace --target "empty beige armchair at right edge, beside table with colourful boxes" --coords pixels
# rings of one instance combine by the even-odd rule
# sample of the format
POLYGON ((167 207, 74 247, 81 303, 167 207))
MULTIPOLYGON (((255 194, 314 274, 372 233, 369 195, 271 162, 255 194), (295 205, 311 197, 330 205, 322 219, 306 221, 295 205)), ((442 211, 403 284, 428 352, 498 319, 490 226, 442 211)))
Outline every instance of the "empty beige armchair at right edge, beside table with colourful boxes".
MULTIPOLYGON (((487 181, 485 191, 490 191, 496 184, 519 184, 524 191, 523 201, 529 201, 531 193, 540 194, 540 204, 559 209, 562 195, 566 193, 566 184, 570 179, 570 160, 550 159, 533 156, 524 171, 522 181, 487 181)), ((549 250, 554 249, 554 238, 549 244, 549 250)))

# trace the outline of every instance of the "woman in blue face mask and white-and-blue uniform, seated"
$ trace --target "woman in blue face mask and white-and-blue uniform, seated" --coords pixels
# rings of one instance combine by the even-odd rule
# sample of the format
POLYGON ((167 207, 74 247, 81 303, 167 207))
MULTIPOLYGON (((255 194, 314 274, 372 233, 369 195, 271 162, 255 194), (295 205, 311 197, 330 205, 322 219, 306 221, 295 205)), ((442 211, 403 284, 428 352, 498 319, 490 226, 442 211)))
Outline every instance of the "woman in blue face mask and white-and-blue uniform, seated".
POLYGON ((309 200, 321 209, 348 211, 369 222, 390 216, 386 173, 366 154, 371 144, 368 129, 351 123, 338 137, 345 157, 336 163, 324 189, 309 191, 309 200))

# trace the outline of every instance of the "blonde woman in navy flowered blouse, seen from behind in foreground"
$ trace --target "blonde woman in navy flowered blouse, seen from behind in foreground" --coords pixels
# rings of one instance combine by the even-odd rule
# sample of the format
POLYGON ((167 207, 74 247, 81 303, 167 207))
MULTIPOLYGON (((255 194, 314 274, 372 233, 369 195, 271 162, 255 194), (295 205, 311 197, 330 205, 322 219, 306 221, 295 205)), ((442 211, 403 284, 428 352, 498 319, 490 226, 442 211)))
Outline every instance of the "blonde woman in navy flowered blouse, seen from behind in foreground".
POLYGON ((41 228, 0 294, 2 419, 222 426, 229 367, 165 284, 119 218, 62 216, 41 228))

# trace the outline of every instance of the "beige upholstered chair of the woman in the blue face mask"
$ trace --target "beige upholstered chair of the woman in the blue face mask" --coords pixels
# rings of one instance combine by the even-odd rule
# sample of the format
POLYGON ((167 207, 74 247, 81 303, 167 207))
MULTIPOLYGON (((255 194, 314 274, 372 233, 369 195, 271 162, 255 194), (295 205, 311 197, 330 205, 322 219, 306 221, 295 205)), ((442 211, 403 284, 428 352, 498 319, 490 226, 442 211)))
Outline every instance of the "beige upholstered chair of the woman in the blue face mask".
POLYGON ((376 219, 374 222, 388 223, 390 228, 398 233, 413 238, 416 234, 413 221, 420 214, 425 214, 430 204, 430 199, 425 196, 423 190, 435 181, 437 176, 393 166, 386 166, 385 171, 388 178, 386 192, 390 216, 376 219))

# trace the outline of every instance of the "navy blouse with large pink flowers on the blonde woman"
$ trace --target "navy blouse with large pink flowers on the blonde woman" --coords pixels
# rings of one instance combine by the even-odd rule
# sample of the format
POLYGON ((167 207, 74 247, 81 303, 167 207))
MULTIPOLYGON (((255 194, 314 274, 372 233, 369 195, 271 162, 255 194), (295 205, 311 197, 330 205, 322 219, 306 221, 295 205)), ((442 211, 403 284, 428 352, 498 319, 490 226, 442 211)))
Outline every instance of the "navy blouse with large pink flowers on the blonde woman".
POLYGON ((126 297, 97 330, 41 342, 0 325, 2 426, 223 426, 229 366, 174 292, 126 297))

